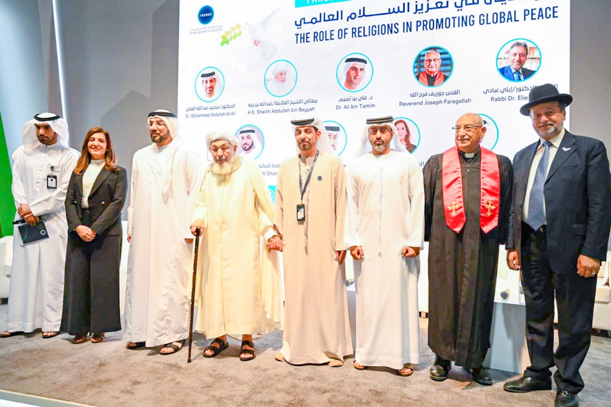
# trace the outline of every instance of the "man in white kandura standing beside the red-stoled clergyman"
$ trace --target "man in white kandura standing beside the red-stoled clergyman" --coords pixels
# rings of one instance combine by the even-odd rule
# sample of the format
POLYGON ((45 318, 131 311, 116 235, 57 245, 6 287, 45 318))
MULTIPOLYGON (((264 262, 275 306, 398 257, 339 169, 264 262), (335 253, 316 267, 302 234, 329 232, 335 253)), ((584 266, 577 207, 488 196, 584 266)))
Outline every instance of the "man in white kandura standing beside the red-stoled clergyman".
POLYGON ((386 366, 409 376, 420 359, 422 171, 392 117, 366 123, 362 155, 348 167, 346 198, 346 245, 356 281, 354 367, 386 366))

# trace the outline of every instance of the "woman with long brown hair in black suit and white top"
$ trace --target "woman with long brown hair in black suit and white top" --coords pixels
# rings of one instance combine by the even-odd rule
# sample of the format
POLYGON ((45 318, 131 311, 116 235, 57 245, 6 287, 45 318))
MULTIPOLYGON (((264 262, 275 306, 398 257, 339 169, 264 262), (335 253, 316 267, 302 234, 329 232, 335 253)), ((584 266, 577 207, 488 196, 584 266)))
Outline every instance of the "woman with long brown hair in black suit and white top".
POLYGON ((89 333, 91 342, 101 342, 105 332, 121 329, 121 210, 127 177, 115 162, 108 131, 90 129, 65 201, 68 248, 60 330, 74 335, 74 344, 85 342, 89 333))

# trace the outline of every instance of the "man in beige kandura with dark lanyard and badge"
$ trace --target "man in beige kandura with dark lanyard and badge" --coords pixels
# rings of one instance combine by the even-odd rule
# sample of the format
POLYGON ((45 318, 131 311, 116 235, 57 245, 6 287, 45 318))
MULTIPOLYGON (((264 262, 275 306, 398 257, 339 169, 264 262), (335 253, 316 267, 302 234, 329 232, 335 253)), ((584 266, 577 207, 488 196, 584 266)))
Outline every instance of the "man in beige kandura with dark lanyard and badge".
POLYGON ((299 155, 280 164, 276 185, 285 292, 284 337, 276 359, 337 367, 353 353, 340 267, 346 257, 346 175, 319 119, 291 123, 299 155))

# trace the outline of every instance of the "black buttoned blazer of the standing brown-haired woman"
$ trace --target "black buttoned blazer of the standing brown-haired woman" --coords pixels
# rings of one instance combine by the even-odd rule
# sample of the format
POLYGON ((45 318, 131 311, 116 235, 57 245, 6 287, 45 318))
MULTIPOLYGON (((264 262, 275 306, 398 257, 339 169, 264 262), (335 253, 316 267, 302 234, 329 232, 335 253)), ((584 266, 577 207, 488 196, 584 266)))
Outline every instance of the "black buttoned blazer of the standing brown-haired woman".
MULTIPOLYGON (((102 168, 98 174, 87 198, 92 222, 90 227, 96 234, 107 236, 122 234, 121 210, 125 204, 126 185, 125 168, 119 167, 119 171, 102 168)), ((66 218, 70 232, 73 232, 76 226, 82 225, 81 200, 82 174, 77 175, 73 172, 66 194, 66 218)))

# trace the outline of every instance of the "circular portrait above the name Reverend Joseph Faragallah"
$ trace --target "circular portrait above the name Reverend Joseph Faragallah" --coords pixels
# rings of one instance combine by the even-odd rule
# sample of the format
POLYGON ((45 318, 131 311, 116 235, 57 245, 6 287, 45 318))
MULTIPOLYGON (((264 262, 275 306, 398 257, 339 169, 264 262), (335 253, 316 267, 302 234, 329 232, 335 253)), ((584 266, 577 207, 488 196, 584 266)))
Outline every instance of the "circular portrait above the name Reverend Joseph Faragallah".
POLYGON ((454 69, 454 61, 447 49, 430 46, 414 59, 414 77, 420 84, 436 87, 445 83, 454 69))

